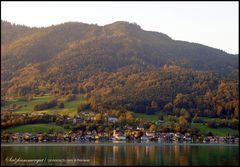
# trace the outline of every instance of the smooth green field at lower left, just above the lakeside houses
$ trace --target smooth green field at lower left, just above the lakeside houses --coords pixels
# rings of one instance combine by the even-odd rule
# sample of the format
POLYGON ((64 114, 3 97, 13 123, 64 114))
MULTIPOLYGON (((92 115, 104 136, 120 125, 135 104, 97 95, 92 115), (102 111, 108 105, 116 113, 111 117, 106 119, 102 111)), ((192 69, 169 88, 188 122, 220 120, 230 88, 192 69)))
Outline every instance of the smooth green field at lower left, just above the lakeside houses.
POLYGON ((48 133, 49 131, 53 132, 64 132, 66 131, 61 126, 57 126, 54 124, 28 124, 28 125, 21 125, 12 128, 8 128, 5 130, 6 132, 30 132, 30 133, 48 133))

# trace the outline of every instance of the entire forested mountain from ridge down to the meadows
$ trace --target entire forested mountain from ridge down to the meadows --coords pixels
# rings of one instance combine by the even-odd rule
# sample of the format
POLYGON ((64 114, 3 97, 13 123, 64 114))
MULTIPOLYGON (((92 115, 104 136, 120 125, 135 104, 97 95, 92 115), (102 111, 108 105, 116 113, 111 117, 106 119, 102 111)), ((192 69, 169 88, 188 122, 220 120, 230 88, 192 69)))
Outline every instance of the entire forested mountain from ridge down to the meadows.
POLYGON ((152 103, 163 109, 178 94, 194 97, 193 108, 209 91, 211 98, 225 100, 223 108, 238 101, 238 55, 173 40, 135 23, 30 28, 1 21, 1 36, 2 95, 47 87, 53 94, 88 93, 104 107, 147 113, 152 103), (222 87, 231 98, 217 94, 222 87))

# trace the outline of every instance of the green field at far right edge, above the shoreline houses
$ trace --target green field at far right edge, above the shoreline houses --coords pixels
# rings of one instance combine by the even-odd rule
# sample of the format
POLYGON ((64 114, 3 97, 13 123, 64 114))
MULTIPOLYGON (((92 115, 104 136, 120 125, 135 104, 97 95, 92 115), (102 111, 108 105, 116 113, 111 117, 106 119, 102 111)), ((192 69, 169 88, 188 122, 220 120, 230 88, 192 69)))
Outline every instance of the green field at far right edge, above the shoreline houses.
POLYGON ((230 129, 230 128, 210 128, 202 123, 194 123, 193 126, 197 127, 201 133, 207 134, 208 132, 212 132, 214 135, 218 136, 226 136, 226 135, 235 135, 239 134, 238 130, 230 129))

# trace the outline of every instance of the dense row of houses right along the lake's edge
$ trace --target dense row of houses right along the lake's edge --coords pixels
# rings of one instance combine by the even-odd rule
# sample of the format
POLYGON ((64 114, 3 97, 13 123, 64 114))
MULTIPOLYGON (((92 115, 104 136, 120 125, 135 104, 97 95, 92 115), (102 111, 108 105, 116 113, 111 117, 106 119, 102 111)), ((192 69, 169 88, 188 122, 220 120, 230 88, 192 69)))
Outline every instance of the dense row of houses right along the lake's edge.
POLYGON ((137 141, 137 142, 158 142, 158 143, 172 143, 172 142, 196 142, 196 143, 237 143, 239 138, 228 136, 208 136, 204 138, 197 138, 193 140, 189 133, 160 133, 160 132, 144 132, 140 130, 132 131, 126 134, 121 130, 113 130, 111 132, 97 132, 93 131, 76 131, 76 132, 52 132, 49 134, 43 133, 4 133, 1 135, 2 142, 88 142, 88 141, 137 141))

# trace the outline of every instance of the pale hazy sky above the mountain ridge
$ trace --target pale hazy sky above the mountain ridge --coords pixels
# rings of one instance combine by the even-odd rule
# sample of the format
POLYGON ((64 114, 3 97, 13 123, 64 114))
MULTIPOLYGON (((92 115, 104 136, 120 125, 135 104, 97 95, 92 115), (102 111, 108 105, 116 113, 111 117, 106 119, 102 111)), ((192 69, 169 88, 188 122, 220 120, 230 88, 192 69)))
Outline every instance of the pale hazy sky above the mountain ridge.
POLYGON ((235 2, 2 2, 1 19, 27 26, 68 21, 105 25, 135 22, 144 30, 238 53, 235 2))

